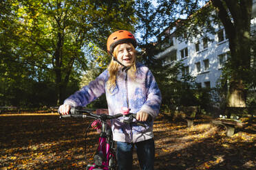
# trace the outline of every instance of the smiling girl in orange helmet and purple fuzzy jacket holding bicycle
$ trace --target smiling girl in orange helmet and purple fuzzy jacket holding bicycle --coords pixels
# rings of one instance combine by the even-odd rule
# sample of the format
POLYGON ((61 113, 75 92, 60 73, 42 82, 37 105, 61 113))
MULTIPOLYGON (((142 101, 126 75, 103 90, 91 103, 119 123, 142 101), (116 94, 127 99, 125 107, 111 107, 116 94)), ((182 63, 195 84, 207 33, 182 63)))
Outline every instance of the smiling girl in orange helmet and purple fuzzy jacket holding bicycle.
POLYGON ((65 99, 61 114, 68 114, 72 106, 86 106, 105 93, 110 115, 122 107, 136 112, 138 121, 146 125, 127 125, 118 119, 111 121, 117 144, 118 168, 131 170, 132 151, 136 147, 141 169, 153 169, 155 145, 153 121, 159 114, 161 94, 151 71, 136 62, 136 39, 131 32, 120 30, 107 39, 107 51, 112 57, 108 68, 96 79, 65 99))

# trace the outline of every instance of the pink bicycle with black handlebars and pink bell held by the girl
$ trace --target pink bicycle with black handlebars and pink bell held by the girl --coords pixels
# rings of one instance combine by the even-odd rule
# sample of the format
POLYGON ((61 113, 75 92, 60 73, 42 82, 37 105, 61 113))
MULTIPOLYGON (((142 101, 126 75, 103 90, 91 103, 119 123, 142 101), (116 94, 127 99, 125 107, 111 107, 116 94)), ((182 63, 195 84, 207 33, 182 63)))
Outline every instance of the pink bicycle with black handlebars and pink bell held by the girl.
MULTIPOLYGON (((128 117, 128 119, 122 120, 123 123, 136 123, 137 125, 145 126, 143 123, 135 122, 136 114, 129 113, 127 108, 122 108, 121 113, 113 116, 107 114, 94 114, 93 110, 88 110, 83 107, 71 108, 70 114, 61 115, 64 117, 75 118, 92 118, 94 121, 90 123, 89 127, 93 127, 96 130, 100 130, 100 137, 98 140, 98 148, 94 154, 94 163, 87 165, 87 170, 116 170, 118 169, 116 160, 116 147, 113 141, 111 127, 107 121, 111 119, 118 119, 120 117, 128 117)), ((89 128, 87 128, 88 131, 89 128)), ((87 131, 85 133, 85 141, 87 138, 87 131)))

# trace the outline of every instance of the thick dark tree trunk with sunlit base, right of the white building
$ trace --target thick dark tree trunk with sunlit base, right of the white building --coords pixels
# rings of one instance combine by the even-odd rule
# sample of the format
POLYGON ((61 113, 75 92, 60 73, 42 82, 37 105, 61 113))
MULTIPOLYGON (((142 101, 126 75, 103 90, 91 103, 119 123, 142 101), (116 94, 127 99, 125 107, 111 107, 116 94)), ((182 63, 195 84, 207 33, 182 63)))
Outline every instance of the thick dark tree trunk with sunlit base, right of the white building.
POLYGON ((252 1, 212 0, 229 42, 231 80, 228 107, 246 106, 246 82, 250 68, 250 17, 252 1))

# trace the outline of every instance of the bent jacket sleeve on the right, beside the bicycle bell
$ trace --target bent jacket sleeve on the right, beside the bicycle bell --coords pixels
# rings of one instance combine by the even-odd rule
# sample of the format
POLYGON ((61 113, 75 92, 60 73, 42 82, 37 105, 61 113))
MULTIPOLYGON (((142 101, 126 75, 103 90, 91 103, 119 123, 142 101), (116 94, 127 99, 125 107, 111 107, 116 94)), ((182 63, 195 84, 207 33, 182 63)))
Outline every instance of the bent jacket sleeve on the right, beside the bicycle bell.
POLYGON ((162 102, 162 96, 158 88, 158 84, 156 83, 155 77, 153 77, 153 74, 151 73, 151 71, 147 72, 145 85, 148 88, 147 100, 145 104, 143 104, 140 111, 147 112, 154 119, 159 114, 159 110, 162 102))

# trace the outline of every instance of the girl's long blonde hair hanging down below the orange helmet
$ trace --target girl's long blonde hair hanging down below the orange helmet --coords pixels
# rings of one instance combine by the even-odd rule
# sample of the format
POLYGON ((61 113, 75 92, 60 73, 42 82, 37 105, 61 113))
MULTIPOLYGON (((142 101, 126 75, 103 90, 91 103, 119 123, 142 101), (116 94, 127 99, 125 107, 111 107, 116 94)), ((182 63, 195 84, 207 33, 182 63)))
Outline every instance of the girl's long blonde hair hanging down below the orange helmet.
MULTIPOLYGON (((127 43, 129 45, 131 45, 132 50, 134 51, 134 63, 131 65, 131 68, 128 70, 127 74, 129 77, 131 77, 131 79, 135 80, 135 73, 136 73, 136 50, 134 48, 134 45, 132 45, 131 43, 127 43)), ((120 44, 117 45, 114 48, 113 51, 113 57, 117 58, 118 55, 118 49, 120 48, 120 44)), ((109 66, 107 67, 108 71, 109 71, 109 80, 107 80, 107 90, 109 90, 109 92, 111 92, 111 90, 113 90, 116 87, 116 74, 118 73, 118 69, 120 69, 120 64, 118 64, 118 62, 114 61, 113 59, 111 60, 111 62, 109 63, 109 66)))

